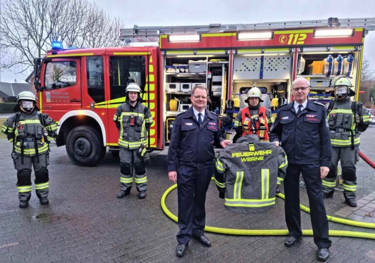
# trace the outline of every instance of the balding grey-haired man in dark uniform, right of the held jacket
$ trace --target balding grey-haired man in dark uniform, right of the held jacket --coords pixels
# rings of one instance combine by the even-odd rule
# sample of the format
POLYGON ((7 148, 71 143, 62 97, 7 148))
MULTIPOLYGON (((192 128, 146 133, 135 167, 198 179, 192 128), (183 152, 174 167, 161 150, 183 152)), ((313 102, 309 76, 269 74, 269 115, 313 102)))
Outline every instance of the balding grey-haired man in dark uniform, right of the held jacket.
POLYGON ((327 261, 331 241, 323 203, 322 179, 330 170, 332 149, 326 109, 322 104, 307 99, 309 86, 305 78, 293 81, 294 101, 279 109, 270 141, 276 146, 281 143, 289 163, 284 179, 285 219, 289 237, 284 244, 291 247, 302 236, 298 184, 302 173, 309 197, 314 243, 318 247, 317 259, 327 261))

